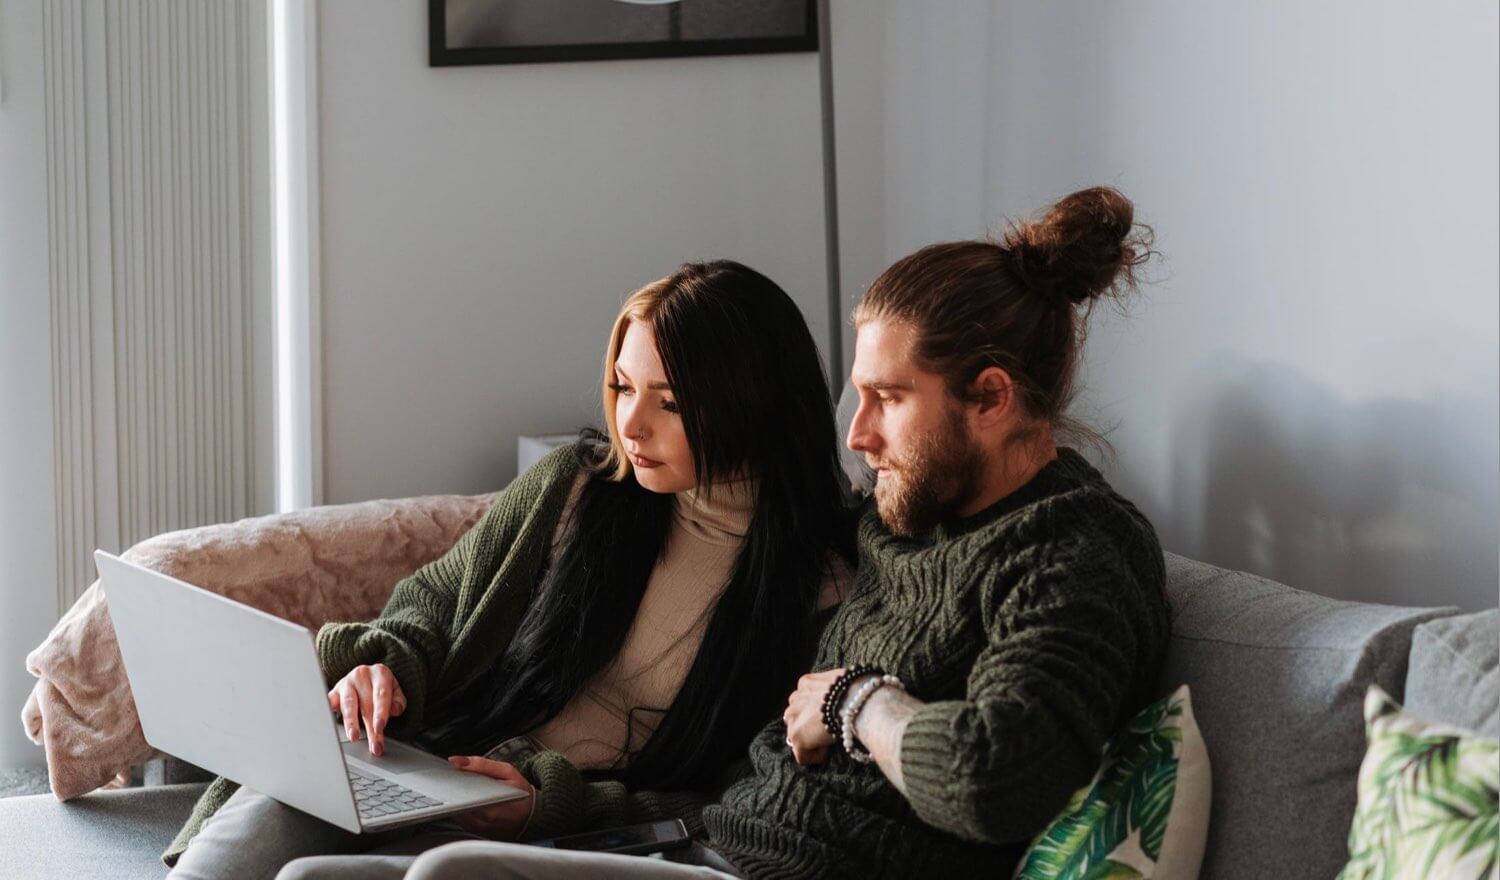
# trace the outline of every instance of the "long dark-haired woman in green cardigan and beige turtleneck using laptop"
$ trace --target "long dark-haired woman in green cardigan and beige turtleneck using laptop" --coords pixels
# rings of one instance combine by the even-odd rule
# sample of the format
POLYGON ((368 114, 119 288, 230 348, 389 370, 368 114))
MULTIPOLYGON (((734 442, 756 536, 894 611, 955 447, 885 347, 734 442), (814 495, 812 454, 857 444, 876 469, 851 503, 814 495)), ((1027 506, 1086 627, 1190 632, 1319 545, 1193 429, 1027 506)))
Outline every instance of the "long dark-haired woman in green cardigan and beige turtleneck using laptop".
POLYGON ((636 291, 603 373, 608 433, 512 483, 380 618, 318 633, 351 739, 380 754, 388 721, 531 796, 351 835, 220 780, 165 856, 174 877, 369 852, 362 876, 400 876, 441 843, 555 837, 585 816, 700 828, 848 579, 832 411, 796 306, 729 261, 636 291))

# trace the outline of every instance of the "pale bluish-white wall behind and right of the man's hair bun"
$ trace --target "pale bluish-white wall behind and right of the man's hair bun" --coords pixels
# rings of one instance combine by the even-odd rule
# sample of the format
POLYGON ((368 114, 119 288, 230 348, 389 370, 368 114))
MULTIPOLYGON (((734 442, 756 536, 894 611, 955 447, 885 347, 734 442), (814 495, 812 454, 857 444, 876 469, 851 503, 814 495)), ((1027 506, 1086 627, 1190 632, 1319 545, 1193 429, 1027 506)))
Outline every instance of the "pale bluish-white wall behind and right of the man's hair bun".
POLYGON ((1334 597, 1500 580, 1497 6, 888 6, 886 256, 1074 189, 1167 261, 1080 414, 1168 550, 1334 597))

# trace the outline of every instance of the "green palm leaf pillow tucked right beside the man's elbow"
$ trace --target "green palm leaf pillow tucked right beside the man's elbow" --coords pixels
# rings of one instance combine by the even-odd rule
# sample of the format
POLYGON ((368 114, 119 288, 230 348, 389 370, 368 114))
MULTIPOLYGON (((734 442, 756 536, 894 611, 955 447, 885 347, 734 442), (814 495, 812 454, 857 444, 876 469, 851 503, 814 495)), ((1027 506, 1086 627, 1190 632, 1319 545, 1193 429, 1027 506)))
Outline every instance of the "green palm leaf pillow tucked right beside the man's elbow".
POLYGON ((1018 880, 1196 879, 1209 837, 1209 753, 1188 685, 1142 709, 1100 771, 1032 841, 1018 880))

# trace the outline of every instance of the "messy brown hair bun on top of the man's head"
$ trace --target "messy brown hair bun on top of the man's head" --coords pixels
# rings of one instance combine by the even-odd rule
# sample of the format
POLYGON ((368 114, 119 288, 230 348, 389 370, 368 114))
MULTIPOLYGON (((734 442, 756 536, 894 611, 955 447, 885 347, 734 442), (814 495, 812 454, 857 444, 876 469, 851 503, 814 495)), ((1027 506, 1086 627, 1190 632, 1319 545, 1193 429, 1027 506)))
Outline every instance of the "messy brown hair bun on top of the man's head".
POLYGON ((1134 223, 1136 207, 1108 186, 1080 189, 1040 220, 1005 229, 1000 247, 1017 280, 1038 295, 1070 304, 1107 295, 1150 255, 1152 232, 1134 223))

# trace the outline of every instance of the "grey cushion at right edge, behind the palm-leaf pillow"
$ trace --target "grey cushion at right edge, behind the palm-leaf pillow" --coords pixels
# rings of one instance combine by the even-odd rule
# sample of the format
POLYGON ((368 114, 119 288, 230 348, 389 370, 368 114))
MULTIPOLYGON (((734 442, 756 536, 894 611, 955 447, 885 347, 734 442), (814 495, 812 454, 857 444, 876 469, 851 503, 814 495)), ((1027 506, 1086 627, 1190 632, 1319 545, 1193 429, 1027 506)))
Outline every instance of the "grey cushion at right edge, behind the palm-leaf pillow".
POLYGON ((1500 739, 1500 609, 1416 628, 1406 708, 1500 739))

